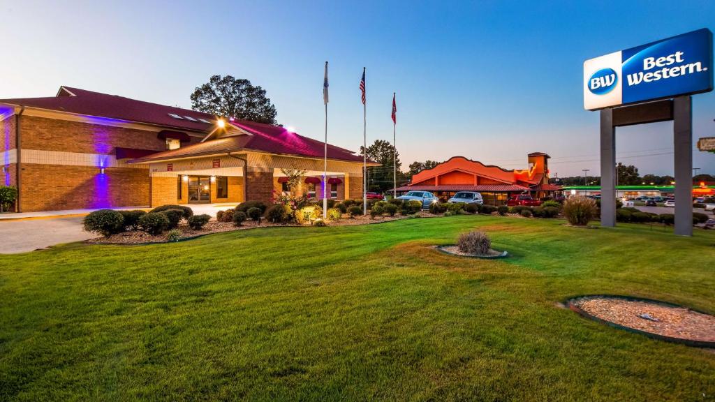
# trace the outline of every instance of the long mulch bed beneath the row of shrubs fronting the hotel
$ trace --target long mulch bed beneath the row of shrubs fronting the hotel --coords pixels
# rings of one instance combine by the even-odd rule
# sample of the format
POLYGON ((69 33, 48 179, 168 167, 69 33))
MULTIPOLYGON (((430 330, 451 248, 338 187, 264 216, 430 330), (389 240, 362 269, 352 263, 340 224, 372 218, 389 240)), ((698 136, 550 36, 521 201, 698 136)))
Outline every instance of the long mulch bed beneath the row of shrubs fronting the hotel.
MULTIPOLYGON (((432 215, 429 212, 418 212, 420 217, 435 217, 441 215, 432 215)), ((406 219, 405 215, 395 215, 394 217, 376 217, 372 219, 370 215, 368 216, 357 216, 351 218, 350 215, 342 215, 340 220, 327 220, 325 221, 327 226, 351 226, 351 225, 370 225, 374 223, 390 222, 393 220, 406 219)), ((220 232, 231 232, 233 230, 247 230, 247 229, 257 229, 259 227, 309 227, 310 225, 297 225, 286 224, 282 225, 280 223, 271 223, 267 220, 261 220, 261 224, 258 225, 252 220, 246 220, 241 226, 236 226, 233 222, 218 222, 215 218, 212 218, 202 229, 194 230, 189 225, 182 223, 177 227, 181 232, 181 238, 179 240, 187 240, 192 237, 197 237, 201 235, 209 235, 211 233, 220 232)), ((145 243, 162 243, 167 242, 168 232, 164 232, 161 235, 149 235, 147 232, 142 230, 130 230, 128 232, 118 233, 117 235, 112 235, 109 237, 97 237, 95 239, 87 240, 90 244, 145 244, 145 243)))

